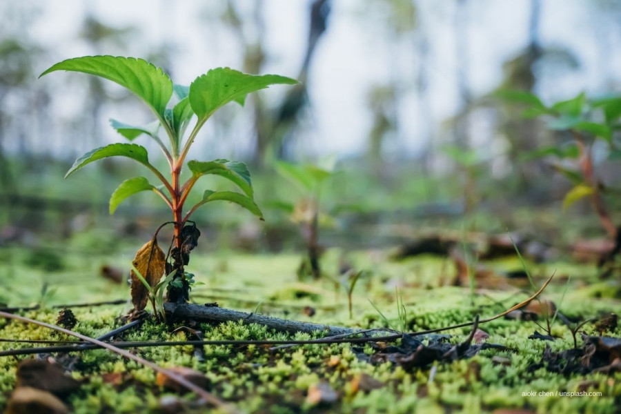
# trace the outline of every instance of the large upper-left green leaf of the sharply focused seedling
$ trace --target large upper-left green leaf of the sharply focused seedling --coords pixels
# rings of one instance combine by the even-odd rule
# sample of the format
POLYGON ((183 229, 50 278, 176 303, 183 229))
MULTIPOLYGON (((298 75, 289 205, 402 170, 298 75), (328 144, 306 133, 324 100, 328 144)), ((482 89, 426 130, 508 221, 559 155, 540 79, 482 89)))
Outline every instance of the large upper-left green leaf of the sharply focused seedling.
POLYGON ((85 56, 67 59, 41 73, 39 77, 56 70, 83 72, 109 79, 134 92, 161 118, 172 96, 172 81, 164 70, 143 59, 114 56, 85 56))

